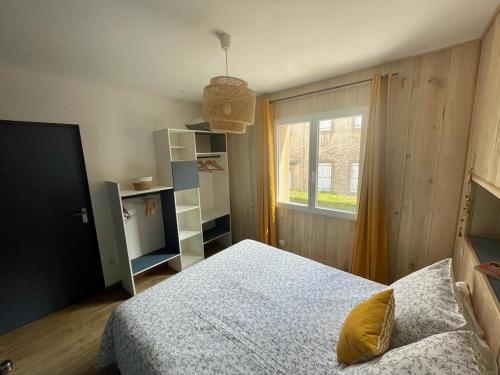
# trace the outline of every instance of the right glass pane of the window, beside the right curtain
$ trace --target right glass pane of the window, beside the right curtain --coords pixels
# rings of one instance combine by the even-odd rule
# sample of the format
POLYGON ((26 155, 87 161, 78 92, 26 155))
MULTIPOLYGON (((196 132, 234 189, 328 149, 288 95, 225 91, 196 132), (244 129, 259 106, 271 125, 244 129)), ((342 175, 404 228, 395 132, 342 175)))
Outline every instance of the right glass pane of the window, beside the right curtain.
POLYGON ((353 132, 352 127, 361 127, 363 118, 353 115, 328 121, 329 135, 318 132, 316 207, 356 212, 361 132, 353 132))

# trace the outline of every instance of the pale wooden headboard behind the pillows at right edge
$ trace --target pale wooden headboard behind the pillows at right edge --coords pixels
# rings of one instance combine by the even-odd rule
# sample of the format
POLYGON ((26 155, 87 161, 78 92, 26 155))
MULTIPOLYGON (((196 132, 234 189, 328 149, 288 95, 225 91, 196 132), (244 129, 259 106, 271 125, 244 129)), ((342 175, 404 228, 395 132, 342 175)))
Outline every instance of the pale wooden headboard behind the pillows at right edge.
POLYGON ((453 255, 455 279, 468 283, 476 318, 500 367, 500 303, 486 275, 474 270, 478 264, 479 260, 468 238, 459 237, 453 255))

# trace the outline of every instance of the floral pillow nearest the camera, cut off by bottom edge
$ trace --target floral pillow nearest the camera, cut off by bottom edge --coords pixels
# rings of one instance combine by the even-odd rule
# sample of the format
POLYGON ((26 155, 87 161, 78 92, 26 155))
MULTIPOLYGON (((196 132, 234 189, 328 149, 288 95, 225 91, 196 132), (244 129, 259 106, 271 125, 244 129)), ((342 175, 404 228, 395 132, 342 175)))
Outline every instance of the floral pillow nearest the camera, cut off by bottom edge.
POLYGON ((344 367, 340 373, 494 375, 496 369, 484 367, 474 333, 454 331, 392 349, 372 361, 344 367))

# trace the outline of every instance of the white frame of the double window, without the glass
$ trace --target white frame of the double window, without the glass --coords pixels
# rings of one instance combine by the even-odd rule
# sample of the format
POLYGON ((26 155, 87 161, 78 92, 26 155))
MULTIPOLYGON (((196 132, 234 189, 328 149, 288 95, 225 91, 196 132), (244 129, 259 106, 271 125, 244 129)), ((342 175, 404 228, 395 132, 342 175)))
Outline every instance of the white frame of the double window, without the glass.
MULTIPOLYGON (((358 218, 358 213, 357 212, 350 212, 350 211, 342 211, 342 210, 335 210, 335 209, 328 209, 328 208, 320 208, 316 207, 316 197, 317 197, 317 166, 320 162, 319 160, 319 134, 320 134, 320 129, 319 129, 319 122, 321 120, 326 120, 326 119, 334 119, 334 118, 341 118, 341 117, 348 117, 348 116, 356 116, 356 115, 362 115, 363 120, 362 120, 362 125, 361 125, 361 145, 360 145, 360 158, 359 158, 359 172, 361 173, 361 165, 362 165, 362 158, 363 158, 363 143, 365 139, 365 133, 366 133, 366 126, 368 125, 368 107, 364 106, 357 106, 357 107, 351 107, 351 108, 345 108, 345 109, 337 109, 337 110, 332 110, 332 111, 326 111, 326 112, 316 112, 316 113, 311 113, 311 114, 305 114, 305 115, 297 115, 297 116, 286 116, 286 117, 280 117, 275 119, 274 122, 274 146, 275 146, 275 160, 274 160, 274 171, 275 171, 275 181, 276 181, 276 206, 278 207, 285 207, 289 208, 292 210, 297 210, 297 211, 303 211, 303 212, 309 212, 311 214, 319 214, 319 215, 325 215, 325 216, 332 216, 332 217, 337 217, 341 219, 347 219, 350 221, 356 221, 358 218), (307 205, 301 205, 301 204, 294 204, 290 202, 281 202, 279 200, 279 126, 280 125, 292 125, 296 123, 301 123, 301 122, 308 122, 309 123, 309 183, 308 183, 308 196, 309 200, 307 205)), ((333 129, 334 125, 332 123, 332 128, 330 131, 334 131, 333 129)), ((349 164, 350 168, 350 164, 349 164)), ((358 203, 359 203, 359 182, 361 181, 361 176, 358 176, 358 192, 357 192, 357 197, 358 197, 358 203)), ((334 181, 332 182, 333 185, 334 181)))

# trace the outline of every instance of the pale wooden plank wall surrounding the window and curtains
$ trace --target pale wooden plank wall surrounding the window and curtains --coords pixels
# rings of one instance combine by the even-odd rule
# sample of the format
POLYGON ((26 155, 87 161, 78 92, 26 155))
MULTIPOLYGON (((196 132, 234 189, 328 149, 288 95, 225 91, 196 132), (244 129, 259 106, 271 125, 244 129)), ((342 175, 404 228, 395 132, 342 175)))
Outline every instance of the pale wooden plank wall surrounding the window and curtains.
MULTIPOLYGON (((377 71, 398 73, 391 79, 388 132, 393 279, 452 255, 479 49, 479 41, 468 42, 271 95, 279 98, 355 82, 377 71)), ((281 102, 276 116, 368 105, 369 97, 370 85, 359 85, 281 102)), ((235 241, 255 238, 256 137, 255 127, 246 135, 229 137, 235 241)), ((277 216, 278 238, 284 240, 284 249, 350 269, 355 222, 287 208, 278 208, 277 216)))

